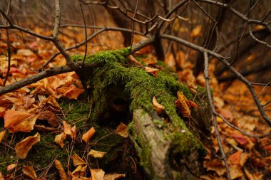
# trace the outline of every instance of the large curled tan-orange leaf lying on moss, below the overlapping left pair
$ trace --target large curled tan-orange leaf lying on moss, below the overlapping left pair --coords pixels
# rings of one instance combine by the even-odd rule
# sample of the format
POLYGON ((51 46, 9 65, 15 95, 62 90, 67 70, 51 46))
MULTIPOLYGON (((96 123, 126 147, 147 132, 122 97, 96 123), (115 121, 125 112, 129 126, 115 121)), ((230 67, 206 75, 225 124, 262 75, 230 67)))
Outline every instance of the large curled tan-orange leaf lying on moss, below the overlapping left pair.
POLYGON ((31 149, 31 147, 39 142, 41 139, 41 135, 37 132, 33 137, 26 137, 26 139, 17 143, 15 146, 15 152, 20 159, 24 159, 27 156, 27 153, 31 149))

